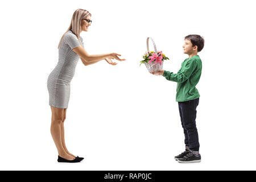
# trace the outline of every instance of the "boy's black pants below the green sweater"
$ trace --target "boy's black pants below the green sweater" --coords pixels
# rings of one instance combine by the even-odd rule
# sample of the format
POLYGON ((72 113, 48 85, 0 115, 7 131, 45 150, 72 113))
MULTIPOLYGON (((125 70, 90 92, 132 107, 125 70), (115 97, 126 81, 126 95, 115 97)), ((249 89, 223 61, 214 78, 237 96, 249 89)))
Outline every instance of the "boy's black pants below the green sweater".
POLYGON ((196 107, 199 105, 199 98, 178 102, 178 105, 185 135, 185 146, 188 146, 190 150, 199 151, 199 138, 196 129, 196 107))

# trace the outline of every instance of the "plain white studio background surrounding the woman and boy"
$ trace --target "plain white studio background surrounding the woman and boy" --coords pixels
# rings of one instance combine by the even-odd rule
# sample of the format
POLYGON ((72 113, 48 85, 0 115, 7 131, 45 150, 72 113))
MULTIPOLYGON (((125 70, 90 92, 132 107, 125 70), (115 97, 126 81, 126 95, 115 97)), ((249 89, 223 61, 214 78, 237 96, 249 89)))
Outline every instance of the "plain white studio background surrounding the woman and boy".
MULTIPOLYGON (((255 170, 254 1, 1 1, 1 170, 255 170), (77 64, 65 120, 68 150, 57 163, 47 78, 73 12, 92 14, 82 32, 90 54, 126 61, 77 64), (180 164, 184 134, 176 82, 139 61, 151 36, 176 73, 184 36, 204 36, 196 88, 201 163, 180 164)), ((152 50, 152 47, 151 47, 152 50)))

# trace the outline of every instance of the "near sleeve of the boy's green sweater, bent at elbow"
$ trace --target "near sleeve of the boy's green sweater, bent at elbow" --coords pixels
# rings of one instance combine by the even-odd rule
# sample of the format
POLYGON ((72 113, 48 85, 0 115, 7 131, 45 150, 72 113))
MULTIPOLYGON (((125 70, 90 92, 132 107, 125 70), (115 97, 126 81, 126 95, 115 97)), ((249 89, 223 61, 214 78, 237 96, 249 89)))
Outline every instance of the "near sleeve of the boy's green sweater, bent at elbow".
POLYGON ((173 72, 164 71, 163 76, 166 77, 167 80, 175 81, 182 83, 192 75, 197 67, 196 59, 192 59, 187 61, 184 65, 181 65, 180 70, 175 74, 173 72))

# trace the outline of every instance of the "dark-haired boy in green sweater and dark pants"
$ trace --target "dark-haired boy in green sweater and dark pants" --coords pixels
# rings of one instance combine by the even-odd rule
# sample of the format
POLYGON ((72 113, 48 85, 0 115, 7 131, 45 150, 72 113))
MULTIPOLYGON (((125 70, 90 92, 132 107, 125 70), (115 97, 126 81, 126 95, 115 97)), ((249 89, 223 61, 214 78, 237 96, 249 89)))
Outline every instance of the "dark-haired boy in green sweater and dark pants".
POLYGON ((188 58, 181 63, 179 72, 172 73, 158 69, 153 75, 163 75, 167 80, 177 82, 176 101, 179 105, 181 125, 185 135, 185 151, 175 156, 179 163, 201 162, 199 137, 196 129, 196 107, 200 94, 196 84, 200 80, 202 62, 197 52, 204 48, 204 39, 200 35, 188 35, 184 39, 183 50, 188 58))

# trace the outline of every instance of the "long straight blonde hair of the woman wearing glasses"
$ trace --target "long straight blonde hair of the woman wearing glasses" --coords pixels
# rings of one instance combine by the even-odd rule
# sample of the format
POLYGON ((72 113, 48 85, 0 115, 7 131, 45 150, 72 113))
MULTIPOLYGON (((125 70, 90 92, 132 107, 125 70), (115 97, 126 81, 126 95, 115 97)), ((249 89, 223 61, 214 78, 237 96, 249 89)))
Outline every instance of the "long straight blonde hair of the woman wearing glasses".
MULTIPOLYGON (((90 14, 89 11, 86 11, 83 9, 77 9, 72 16, 71 24, 69 25, 68 30, 63 34, 63 36, 69 30, 71 30, 77 36, 77 39, 80 42, 81 22, 82 22, 82 19, 85 19, 89 15, 92 16, 92 14, 90 14)), ((61 36, 61 39, 63 38, 63 36, 61 36)), ((61 42, 61 39, 60 39, 60 42, 61 42)), ((58 48, 60 47, 60 42, 59 42, 58 48)))

